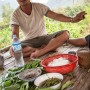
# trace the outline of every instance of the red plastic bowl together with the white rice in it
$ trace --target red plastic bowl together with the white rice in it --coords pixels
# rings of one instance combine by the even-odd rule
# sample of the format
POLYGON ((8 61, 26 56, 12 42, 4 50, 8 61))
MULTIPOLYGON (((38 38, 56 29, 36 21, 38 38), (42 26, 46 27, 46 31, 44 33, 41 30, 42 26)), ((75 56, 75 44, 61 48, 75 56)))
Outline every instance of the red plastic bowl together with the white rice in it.
POLYGON ((77 61, 78 57, 76 55, 58 54, 43 59, 40 64, 46 72, 67 74, 74 70, 77 61))

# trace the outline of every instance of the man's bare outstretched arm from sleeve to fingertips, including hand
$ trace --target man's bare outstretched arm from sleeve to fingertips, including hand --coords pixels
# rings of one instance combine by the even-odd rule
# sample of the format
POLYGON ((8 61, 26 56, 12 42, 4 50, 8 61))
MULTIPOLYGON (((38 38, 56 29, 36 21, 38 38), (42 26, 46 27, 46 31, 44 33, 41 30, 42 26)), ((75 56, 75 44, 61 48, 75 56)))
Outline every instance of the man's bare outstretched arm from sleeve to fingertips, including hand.
POLYGON ((78 13, 74 18, 72 18, 72 17, 65 16, 63 14, 58 14, 58 13, 55 13, 51 10, 48 10, 46 16, 49 18, 52 18, 54 20, 61 21, 61 22, 75 23, 75 22, 79 22, 79 21, 83 20, 85 14, 86 14, 85 11, 83 11, 83 12, 78 13))

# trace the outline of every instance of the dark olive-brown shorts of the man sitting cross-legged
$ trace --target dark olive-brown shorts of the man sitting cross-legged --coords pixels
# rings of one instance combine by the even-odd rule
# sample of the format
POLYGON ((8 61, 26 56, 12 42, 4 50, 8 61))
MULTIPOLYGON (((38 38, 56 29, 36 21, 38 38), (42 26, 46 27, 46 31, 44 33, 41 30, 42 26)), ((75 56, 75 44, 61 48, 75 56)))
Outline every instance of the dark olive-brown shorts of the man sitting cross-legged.
POLYGON ((49 34, 49 35, 45 35, 45 36, 36 37, 33 39, 24 40, 24 41, 22 41, 22 47, 31 46, 34 48, 38 48, 38 47, 41 47, 42 45, 47 45, 52 38, 59 36, 64 31, 65 30, 58 31, 53 34, 49 34))

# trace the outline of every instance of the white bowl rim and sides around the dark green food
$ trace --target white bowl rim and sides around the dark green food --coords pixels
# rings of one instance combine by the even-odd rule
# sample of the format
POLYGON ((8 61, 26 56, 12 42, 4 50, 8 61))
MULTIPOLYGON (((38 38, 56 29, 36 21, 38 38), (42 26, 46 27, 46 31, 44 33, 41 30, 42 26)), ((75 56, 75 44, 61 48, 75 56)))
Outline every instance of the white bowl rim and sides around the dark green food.
MULTIPOLYGON (((37 77, 34 81, 34 84, 39 88, 39 90, 52 90, 52 89, 59 89, 61 85, 61 81, 63 80, 63 75, 60 73, 47 73, 43 74, 39 77, 37 77), (46 83, 49 83, 47 80, 52 79, 52 78, 57 78, 59 80, 59 83, 52 85, 52 86, 47 86, 47 87, 40 87, 43 82, 46 81, 46 83)), ((52 81, 53 82, 53 81, 52 81)))

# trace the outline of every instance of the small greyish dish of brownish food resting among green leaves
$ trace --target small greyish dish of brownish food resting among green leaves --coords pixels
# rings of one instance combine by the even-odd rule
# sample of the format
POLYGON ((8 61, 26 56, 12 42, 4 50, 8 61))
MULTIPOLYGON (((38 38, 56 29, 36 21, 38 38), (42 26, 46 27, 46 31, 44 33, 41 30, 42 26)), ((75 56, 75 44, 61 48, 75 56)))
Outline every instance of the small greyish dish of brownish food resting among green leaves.
POLYGON ((19 73, 18 78, 24 81, 32 82, 42 73, 40 68, 32 68, 19 73))

